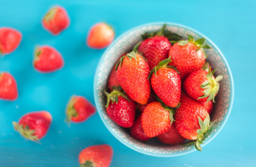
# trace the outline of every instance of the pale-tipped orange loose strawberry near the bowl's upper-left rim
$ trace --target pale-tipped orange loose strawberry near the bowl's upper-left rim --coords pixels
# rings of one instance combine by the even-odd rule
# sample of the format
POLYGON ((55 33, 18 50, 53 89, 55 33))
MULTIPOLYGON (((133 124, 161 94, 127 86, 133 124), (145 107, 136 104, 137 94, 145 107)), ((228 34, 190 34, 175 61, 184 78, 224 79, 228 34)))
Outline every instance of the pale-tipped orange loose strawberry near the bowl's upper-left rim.
POLYGON ((105 23, 95 24, 89 31, 86 43, 94 49, 103 49, 114 40, 114 31, 105 23))

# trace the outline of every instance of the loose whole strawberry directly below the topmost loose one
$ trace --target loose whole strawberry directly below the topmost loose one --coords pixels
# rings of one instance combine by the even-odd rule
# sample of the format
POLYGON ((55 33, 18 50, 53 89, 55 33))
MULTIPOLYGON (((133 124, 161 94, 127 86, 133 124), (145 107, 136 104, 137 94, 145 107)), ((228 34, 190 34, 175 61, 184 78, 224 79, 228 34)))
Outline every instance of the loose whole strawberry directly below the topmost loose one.
POLYGON ((47 73, 60 70, 64 61, 57 49, 50 46, 36 47, 33 65, 39 72, 47 73))

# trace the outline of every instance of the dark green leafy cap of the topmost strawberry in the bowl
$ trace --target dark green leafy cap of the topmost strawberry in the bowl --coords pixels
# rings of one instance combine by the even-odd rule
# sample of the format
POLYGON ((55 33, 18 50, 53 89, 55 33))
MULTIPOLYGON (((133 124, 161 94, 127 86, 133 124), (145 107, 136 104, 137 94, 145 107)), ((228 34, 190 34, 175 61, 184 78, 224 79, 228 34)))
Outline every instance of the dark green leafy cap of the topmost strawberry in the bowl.
POLYGON ((159 31, 146 32, 142 35, 142 40, 146 38, 152 38, 154 36, 165 36, 168 40, 181 40, 181 36, 176 33, 171 33, 166 28, 166 24, 163 25, 163 28, 159 31))

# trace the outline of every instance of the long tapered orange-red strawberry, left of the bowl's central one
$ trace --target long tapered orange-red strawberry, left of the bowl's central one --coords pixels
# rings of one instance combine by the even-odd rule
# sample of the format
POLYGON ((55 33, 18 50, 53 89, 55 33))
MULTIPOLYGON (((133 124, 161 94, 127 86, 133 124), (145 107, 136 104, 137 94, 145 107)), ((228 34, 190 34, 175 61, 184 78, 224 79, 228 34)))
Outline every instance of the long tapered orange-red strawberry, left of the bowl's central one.
POLYGON ((119 83, 127 95, 135 102, 146 104, 150 95, 149 65, 144 58, 136 53, 137 44, 133 51, 121 57, 116 64, 116 74, 119 83))

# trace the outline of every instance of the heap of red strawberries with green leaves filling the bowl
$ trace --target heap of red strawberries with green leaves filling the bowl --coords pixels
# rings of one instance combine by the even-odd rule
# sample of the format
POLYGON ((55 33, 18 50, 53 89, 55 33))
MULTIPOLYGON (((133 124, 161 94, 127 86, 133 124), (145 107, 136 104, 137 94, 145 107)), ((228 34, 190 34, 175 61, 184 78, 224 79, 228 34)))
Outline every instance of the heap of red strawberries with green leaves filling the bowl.
POLYGON ((210 134, 210 114, 222 75, 206 63, 205 38, 188 40, 163 29, 145 33, 113 67, 107 115, 140 141, 200 144, 210 134))

